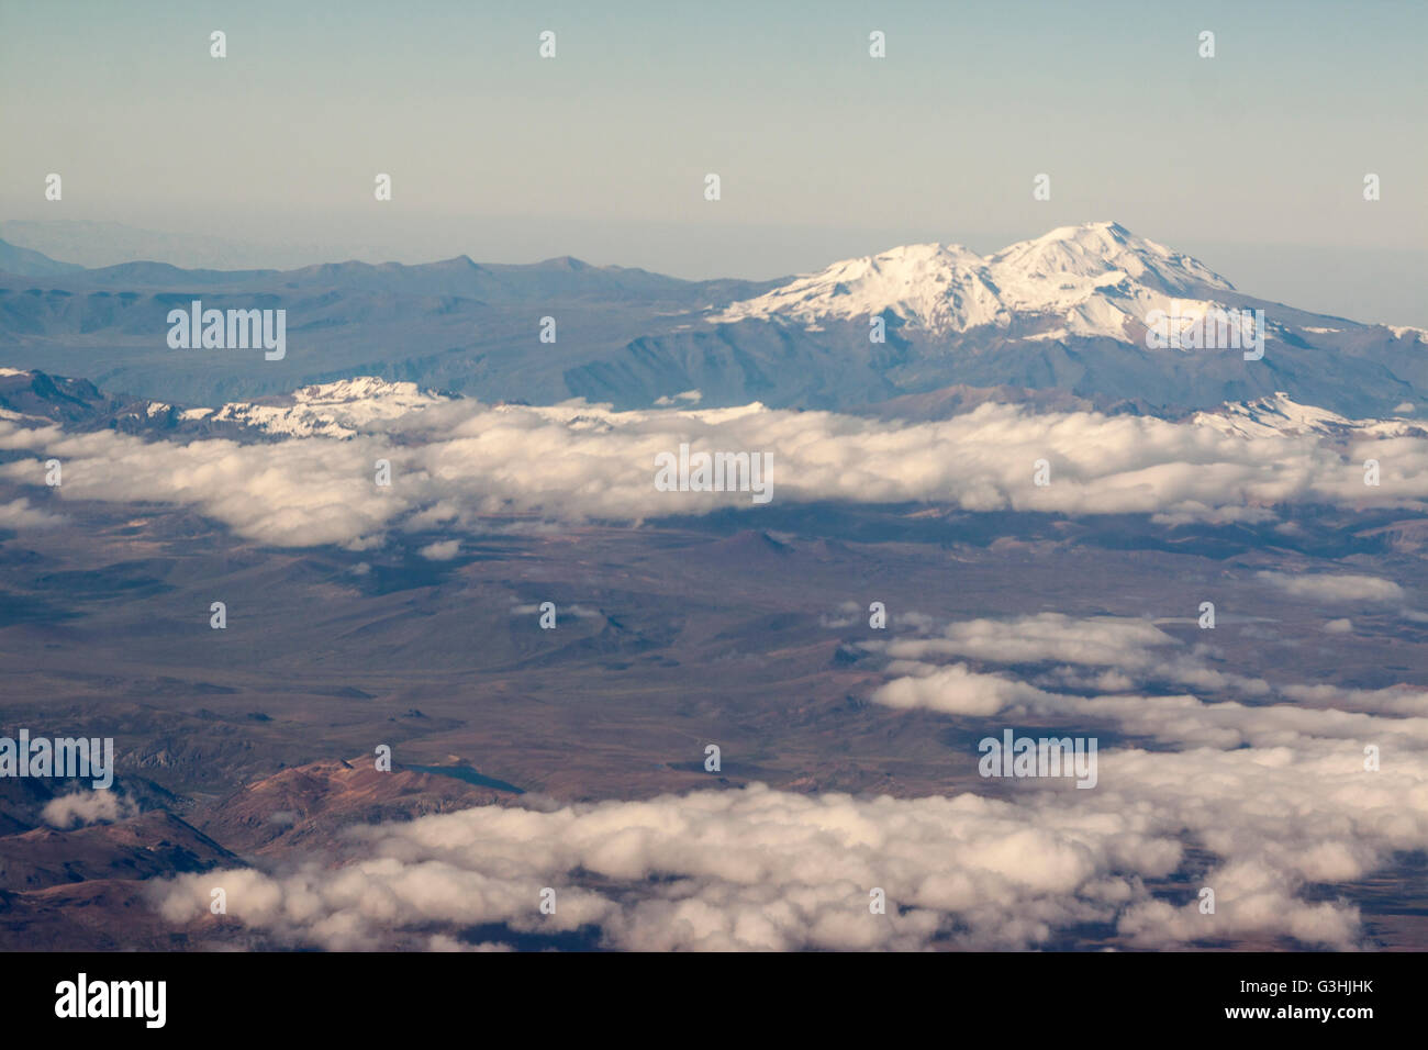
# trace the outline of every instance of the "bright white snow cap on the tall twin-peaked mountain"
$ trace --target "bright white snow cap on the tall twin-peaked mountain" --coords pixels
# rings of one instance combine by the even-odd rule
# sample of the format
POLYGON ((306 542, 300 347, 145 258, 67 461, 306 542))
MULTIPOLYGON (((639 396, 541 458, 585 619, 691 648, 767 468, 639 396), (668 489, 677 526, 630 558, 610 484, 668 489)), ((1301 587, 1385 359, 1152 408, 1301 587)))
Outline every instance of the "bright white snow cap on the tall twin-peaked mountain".
POLYGON ((1210 267, 1111 223, 1064 226, 982 257, 961 244, 908 244, 834 263, 711 317, 817 326, 888 314, 947 336, 1014 319, 1054 321, 1041 339, 1105 336, 1122 341, 1127 323, 1180 300, 1201 314, 1215 291, 1234 286, 1210 267))

